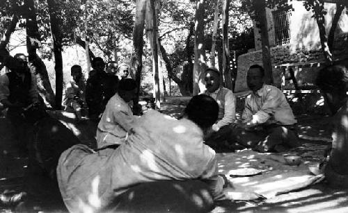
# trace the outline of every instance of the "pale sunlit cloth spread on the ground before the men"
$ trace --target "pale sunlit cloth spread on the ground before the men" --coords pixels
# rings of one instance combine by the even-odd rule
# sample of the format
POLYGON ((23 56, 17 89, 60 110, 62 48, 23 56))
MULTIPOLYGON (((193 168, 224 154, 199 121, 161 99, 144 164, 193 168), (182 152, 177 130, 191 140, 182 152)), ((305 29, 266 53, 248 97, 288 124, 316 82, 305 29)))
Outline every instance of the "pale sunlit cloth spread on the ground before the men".
MULTIPOLYGON (((233 188, 228 189, 228 191, 234 195, 243 192, 273 198, 278 194, 308 187, 324 179, 323 175, 314 176, 308 170, 308 165, 313 164, 313 162, 302 160, 299 166, 290 166, 285 164, 283 154, 258 153, 246 149, 237 153, 219 153, 216 155, 219 162, 219 173, 229 177, 233 188), (230 174, 243 173, 240 169, 244 168, 257 169, 261 173, 255 176, 230 177, 230 174)), ((246 170, 247 172, 253 173, 250 170, 246 170)), ((234 197, 232 196, 232 198, 234 197)), ((234 199, 236 200, 236 198, 234 199)), ((248 198, 243 199, 248 200, 248 198)))

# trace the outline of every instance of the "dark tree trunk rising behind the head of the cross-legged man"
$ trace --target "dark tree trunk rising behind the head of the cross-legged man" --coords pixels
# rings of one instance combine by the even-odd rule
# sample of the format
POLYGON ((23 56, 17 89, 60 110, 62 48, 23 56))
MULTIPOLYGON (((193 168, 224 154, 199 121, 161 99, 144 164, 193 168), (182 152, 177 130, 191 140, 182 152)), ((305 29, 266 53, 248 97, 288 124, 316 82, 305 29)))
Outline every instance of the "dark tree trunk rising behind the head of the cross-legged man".
POLYGON ((257 8, 257 17, 260 24, 261 31, 261 46, 262 46, 262 64, 264 67, 264 83, 273 83, 272 63, 271 63, 271 50, 269 47, 269 35, 268 24, 266 16, 266 3, 265 0, 255 1, 257 8))

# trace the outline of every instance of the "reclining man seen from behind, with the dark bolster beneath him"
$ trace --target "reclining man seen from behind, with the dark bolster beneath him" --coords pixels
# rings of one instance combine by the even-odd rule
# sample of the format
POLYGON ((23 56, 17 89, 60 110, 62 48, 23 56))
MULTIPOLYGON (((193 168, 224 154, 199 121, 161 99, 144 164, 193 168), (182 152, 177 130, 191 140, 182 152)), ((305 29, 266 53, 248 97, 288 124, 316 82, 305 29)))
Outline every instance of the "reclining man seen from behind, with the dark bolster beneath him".
POLYGON ((193 96, 180 120, 150 110, 117 148, 75 145, 58 163, 58 184, 70 212, 208 212, 223 198, 212 148, 203 143, 219 105, 193 96))

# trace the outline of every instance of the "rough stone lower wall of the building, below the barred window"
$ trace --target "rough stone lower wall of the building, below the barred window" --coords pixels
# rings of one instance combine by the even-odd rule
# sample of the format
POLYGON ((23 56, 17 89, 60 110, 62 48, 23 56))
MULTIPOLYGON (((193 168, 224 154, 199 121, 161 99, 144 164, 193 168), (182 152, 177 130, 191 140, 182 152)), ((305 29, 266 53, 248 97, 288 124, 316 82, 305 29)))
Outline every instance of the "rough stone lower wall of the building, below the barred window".
MULTIPOLYGON (((348 60, 348 33, 342 33, 335 39, 335 60, 348 60)), ((294 67, 299 85, 313 84, 319 67, 317 63, 324 62, 324 54, 320 45, 292 49, 290 44, 271 48, 271 62, 274 65, 274 85, 280 87, 281 74, 284 67, 294 67), (314 64, 314 66, 311 66, 314 64), (281 65, 281 66, 279 66, 281 65)), ((262 51, 253 51, 238 57, 237 81, 235 92, 248 90, 246 85, 246 71, 251 65, 262 65, 262 51)))

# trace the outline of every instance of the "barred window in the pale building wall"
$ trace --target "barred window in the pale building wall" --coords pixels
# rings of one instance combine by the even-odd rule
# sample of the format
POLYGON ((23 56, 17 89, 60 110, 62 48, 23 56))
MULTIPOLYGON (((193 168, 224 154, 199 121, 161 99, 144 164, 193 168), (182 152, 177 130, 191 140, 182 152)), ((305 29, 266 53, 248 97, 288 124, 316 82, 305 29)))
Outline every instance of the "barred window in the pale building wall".
POLYGON ((274 31, 276 37, 276 45, 288 44, 290 42, 290 24, 289 19, 291 10, 272 11, 274 21, 274 31))

